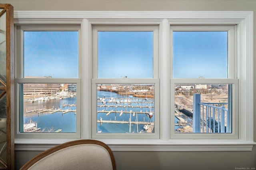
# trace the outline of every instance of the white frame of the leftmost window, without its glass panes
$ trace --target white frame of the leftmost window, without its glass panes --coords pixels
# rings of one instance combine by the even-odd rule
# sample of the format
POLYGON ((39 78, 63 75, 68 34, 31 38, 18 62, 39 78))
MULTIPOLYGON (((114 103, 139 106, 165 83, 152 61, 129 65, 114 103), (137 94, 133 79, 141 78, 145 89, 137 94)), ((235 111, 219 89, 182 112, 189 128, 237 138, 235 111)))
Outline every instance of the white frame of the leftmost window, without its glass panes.
MULTIPOLYGON (((14 79, 14 87, 15 87, 15 94, 16 94, 16 115, 15 115, 15 124, 17 125, 15 127, 15 138, 81 138, 81 71, 79 71, 79 68, 81 65, 79 64, 80 58, 79 58, 79 50, 80 50, 80 34, 81 34, 81 28, 79 25, 54 25, 46 26, 46 25, 16 25, 15 26, 16 35, 15 38, 15 48, 16 48, 16 56, 15 56, 15 79, 14 79), (24 78, 23 77, 23 70, 24 66, 22 63, 24 63, 24 32, 25 31, 77 31, 78 32, 78 77, 77 78, 24 78), (18 43, 21 42, 21 43, 18 43), (23 127, 23 125, 20 125, 20 120, 23 119, 23 111, 20 111, 22 107, 23 108, 23 101, 18 100, 18 98, 22 97, 23 94, 20 93, 20 84, 25 83, 75 83, 76 84, 76 92, 77 92, 77 103, 76 103, 76 132, 72 133, 52 133, 52 132, 45 132, 45 133, 39 133, 39 132, 20 132, 20 128, 23 127), (22 112, 22 113, 21 113, 22 112)), ((23 110, 23 109, 22 109, 23 110)))

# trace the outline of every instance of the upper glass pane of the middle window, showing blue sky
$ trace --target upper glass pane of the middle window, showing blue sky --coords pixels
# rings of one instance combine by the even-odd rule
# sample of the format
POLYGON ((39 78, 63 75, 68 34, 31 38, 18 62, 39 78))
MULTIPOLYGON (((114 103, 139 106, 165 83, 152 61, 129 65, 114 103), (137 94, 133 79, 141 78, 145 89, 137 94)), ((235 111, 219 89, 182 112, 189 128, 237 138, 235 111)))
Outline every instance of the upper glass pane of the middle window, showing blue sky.
POLYGON ((98 32, 98 78, 153 78, 153 32, 98 32))

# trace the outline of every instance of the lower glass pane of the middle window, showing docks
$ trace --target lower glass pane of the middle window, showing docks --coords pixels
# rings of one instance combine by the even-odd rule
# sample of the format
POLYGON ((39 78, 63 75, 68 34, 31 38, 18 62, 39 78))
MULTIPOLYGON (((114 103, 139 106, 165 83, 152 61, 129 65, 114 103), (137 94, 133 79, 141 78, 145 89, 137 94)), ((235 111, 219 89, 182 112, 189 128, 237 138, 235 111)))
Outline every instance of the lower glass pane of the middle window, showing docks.
POLYGON ((97 85, 98 133, 154 133, 154 84, 97 85))

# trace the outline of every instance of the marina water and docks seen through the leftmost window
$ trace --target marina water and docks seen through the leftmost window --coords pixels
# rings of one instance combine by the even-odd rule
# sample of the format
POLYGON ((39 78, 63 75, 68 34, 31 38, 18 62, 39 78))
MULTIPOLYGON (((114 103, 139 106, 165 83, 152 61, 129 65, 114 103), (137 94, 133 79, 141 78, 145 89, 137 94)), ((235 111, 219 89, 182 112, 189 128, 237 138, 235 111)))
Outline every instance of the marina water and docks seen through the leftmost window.
POLYGON ((36 132, 76 132, 76 96, 37 102, 27 100, 23 110, 24 125, 31 120, 40 128, 36 132))

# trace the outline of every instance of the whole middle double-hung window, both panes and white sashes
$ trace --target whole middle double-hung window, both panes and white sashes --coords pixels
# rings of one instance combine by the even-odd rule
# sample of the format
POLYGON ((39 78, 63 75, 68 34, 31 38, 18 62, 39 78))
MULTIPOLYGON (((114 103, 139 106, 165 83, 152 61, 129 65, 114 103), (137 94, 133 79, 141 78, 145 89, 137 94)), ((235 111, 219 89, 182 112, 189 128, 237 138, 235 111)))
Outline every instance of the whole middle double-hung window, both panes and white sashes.
POLYGON ((92 137, 159 138, 158 27, 92 30, 92 137))

